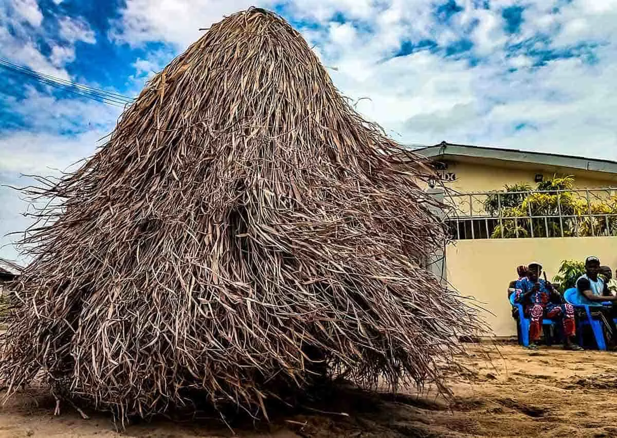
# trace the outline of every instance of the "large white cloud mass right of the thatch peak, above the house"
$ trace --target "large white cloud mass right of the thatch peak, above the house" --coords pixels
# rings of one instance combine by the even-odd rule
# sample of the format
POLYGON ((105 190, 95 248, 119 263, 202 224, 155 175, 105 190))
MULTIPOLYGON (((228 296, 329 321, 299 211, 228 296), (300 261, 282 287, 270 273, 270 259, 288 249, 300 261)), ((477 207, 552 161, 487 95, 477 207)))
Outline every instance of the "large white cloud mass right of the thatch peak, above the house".
POLYGON ((408 25, 392 4, 387 25, 378 19, 368 42, 352 32, 342 33, 344 38, 332 32, 326 38, 318 32, 307 36, 318 44, 326 64, 339 67, 332 73, 339 89, 352 99, 370 98, 359 101, 358 109, 404 143, 448 140, 568 154, 580 154, 586 145, 593 156, 617 159, 617 135, 611 128, 617 117, 617 6, 605 4, 598 14, 598 8, 585 9, 589 2, 575 1, 554 14, 550 2, 526 2, 520 35, 509 36, 501 8, 512 4, 478 10, 468 2, 447 30, 427 17, 408 25), (478 22, 470 35, 474 56, 481 56, 478 65, 428 51, 380 61, 406 35, 418 40, 437 33, 437 41, 457 41, 473 21, 478 22), (581 40, 610 44, 595 50, 597 65, 573 57, 533 67, 536 60, 524 51, 506 57, 507 44, 538 33, 552 35, 547 42, 537 40, 538 50, 565 51, 581 40), (508 72, 511 67, 518 71, 508 72), (522 123, 529 128, 517 131, 522 123))

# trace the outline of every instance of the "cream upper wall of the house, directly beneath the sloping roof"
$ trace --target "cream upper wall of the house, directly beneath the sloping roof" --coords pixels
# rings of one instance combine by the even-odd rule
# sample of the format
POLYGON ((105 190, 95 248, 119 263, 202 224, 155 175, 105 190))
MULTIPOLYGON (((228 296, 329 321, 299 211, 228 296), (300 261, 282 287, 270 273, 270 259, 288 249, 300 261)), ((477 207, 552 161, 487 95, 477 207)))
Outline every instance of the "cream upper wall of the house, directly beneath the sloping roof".
MULTIPOLYGON (((529 183, 535 187, 534 177, 536 174, 544 174, 545 179, 550 179, 553 173, 542 169, 522 169, 513 167, 488 166, 487 164, 474 164, 470 162, 451 163, 448 169, 440 172, 444 177, 445 187, 452 188, 457 192, 490 192, 500 190, 503 185, 517 183, 529 183), (456 179, 449 182, 454 174, 456 179)), ((562 176, 562 175, 558 175, 562 176)), ((575 176, 576 188, 599 188, 617 185, 599 172, 578 172, 575 176)))

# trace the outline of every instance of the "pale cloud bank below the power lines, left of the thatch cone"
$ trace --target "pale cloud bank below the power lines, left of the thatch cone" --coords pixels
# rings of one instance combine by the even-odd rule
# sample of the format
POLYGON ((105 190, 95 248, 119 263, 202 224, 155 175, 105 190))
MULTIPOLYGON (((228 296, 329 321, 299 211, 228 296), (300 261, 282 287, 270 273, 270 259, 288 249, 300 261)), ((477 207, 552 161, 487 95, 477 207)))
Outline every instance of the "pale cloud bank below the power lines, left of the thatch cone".
POLYGON ((33 183, 20 174, 59 176, 60 171, 91 156, 101 145, 99 140, 114 127, 120 111, 92 101, 57 101, 36 91, 30 91, 25 101, 12 107, 32 129, 0 136, 0 258, 23 261, 14 245, 20 236, 7 234, 23 232, 33 223, 22 216, 32 207, 19 192, 3 186, 25 187, 33 183), (59 133, 75 127, 88 130, 74 136, 59 133))

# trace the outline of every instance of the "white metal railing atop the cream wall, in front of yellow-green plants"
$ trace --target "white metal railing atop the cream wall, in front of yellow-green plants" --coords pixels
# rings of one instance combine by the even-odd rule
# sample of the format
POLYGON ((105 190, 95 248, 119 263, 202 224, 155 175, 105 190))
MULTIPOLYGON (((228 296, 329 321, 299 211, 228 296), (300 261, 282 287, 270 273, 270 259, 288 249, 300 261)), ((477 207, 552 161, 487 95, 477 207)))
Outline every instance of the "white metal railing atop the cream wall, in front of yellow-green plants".
POLYGON ((455 239, 617 235, 617 188, 448 193, 455 239))

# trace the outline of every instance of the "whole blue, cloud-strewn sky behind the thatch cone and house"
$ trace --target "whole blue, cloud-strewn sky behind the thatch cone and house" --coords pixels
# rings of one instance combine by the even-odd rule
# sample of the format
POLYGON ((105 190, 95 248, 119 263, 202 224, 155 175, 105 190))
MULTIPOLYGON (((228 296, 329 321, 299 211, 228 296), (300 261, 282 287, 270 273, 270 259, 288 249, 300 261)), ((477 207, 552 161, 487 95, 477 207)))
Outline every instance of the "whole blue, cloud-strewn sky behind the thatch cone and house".
MULTIPOLYGON (((298 28, 401 143, 617 159, 617 0, 254 1, 0 0, 0 58, 136 96, 199 28, 255 5, 298 28)), ((91 155, 121 111, 2 72, 0 184, 91 155)), ((0 188, 0 205, 0 234, 28 225, 15 192, 0 188)))

